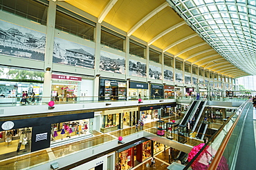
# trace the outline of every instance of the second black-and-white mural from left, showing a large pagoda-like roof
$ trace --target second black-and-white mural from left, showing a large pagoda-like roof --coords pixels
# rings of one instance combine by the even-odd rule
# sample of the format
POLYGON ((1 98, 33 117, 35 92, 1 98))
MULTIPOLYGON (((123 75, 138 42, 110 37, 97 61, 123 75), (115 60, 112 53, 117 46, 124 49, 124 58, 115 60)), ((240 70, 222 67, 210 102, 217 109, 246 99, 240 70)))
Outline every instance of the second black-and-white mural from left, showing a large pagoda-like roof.
POLYGON ((55 37, 53 63, 94 69, 95 50, 78 43, 55 37))

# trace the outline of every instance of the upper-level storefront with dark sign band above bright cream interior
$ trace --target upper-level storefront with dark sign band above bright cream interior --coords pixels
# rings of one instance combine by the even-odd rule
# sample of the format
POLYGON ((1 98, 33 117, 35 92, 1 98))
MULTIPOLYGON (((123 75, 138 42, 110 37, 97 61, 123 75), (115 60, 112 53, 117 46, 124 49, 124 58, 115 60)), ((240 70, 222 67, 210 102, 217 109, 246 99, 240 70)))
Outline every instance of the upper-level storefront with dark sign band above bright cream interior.
POLYGON ((129 82, 129 99, 148 99, 149 87, 147 83, 129 82))

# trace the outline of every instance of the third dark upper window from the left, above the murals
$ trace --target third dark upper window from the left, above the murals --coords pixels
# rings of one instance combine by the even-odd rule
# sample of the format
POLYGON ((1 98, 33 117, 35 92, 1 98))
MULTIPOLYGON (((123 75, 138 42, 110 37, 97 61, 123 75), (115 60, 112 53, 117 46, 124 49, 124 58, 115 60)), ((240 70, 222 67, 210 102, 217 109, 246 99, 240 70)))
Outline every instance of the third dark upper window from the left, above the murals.
POLYGON ((100 43, 123 52, 125 36, 102 26, 100 43))

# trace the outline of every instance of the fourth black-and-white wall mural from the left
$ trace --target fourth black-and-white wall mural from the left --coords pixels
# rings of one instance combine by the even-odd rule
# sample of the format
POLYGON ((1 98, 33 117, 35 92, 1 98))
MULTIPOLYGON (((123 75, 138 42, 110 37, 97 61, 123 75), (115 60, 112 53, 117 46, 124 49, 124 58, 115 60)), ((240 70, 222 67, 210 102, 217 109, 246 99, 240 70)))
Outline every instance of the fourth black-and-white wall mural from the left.
POLYGON ((146 71, 146 63, 129 59, 129 76, 146 77, 146 71))

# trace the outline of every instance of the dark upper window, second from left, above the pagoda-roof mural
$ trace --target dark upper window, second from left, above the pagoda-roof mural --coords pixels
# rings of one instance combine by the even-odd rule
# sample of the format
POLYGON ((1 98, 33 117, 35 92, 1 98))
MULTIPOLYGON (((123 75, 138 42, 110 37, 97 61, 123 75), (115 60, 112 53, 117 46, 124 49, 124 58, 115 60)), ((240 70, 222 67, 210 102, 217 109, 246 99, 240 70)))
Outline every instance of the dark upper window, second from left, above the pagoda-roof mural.
MULTIPOLYGON (((57 7, 60 8, 60 7, 57 7)), ((64 10, 61 8, 61 10, 64 10)), ((68 11, 56 11, 55 28, 93 41, 95 23, 68 11), (77 19, 78 18, 78 19, 77 19)))

